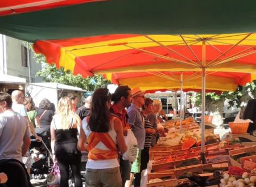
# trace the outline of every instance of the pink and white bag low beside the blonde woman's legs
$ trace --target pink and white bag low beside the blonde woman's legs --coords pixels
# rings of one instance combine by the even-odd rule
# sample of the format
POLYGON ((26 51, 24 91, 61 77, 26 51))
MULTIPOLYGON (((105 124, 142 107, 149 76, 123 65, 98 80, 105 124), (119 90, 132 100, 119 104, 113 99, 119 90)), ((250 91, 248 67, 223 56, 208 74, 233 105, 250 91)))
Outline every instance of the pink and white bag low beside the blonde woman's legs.
POLYGON ((47 176, 47 187, 60 187, 60 168, 57 163, 52 166, 52 171, 47 176))

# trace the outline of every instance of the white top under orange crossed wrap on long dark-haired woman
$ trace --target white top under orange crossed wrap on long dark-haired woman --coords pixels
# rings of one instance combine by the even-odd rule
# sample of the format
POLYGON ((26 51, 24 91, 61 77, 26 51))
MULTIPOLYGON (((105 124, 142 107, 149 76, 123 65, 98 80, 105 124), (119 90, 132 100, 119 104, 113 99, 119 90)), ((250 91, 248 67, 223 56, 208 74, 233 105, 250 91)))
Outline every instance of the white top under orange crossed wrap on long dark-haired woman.
MULTIPOLYGON (((92 131, 87 129, 87 125, 88 123, 85 117, 84 120, 82 120, 82 129, 84 130, 85 135, 88 138, 90 133, 92 133, 92 131)), ((110 137, 113 139, 113 141, 117 143, 117 133, 115 133, 113 123, 111 123, 110 130, 108 133, 110 137)), ((96 148, 100 148, 101 150, 108 150, 108 148, 102 142, 99 142, 96 145, 96 148)), ((107 160, 88 159, 88 162, 86 163, 86 168, 90 168, 90 169, 108 169, 108 168, 116 168, 116 167, 119 167, 119 163, 117 159, 107 159, 107 160)))

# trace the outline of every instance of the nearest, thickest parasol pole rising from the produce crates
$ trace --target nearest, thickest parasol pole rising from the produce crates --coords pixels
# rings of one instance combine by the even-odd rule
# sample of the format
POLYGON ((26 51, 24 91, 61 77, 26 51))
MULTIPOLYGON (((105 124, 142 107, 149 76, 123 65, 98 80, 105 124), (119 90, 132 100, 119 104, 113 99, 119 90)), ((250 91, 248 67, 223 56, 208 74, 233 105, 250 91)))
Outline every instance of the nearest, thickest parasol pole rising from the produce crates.
POLYGON ((202 44, 202 115, 201 115, 201 160, 203 164, 205 164, 205 152, 204 152, 204 129, 205 129, 205 124, 204 124, 204 119, 205 119, 205 40, 203 40, 202 44))

